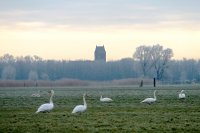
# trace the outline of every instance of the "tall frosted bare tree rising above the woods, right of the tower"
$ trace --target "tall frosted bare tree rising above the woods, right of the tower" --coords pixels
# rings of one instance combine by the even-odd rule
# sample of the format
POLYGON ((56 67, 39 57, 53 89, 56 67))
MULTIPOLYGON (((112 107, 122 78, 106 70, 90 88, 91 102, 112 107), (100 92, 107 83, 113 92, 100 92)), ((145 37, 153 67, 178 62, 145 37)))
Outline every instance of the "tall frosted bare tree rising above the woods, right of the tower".
POLYGON ((146 76, 147 73, 154 68, 158 80, 163 78, 165 69, 168 67, 168 62, 172 56, 172 49, 163 49, 163 46, 159 44, 153 46, 139 46, 136 48, 136 52, 133 55, 141 64, 143 75, 146 76))

